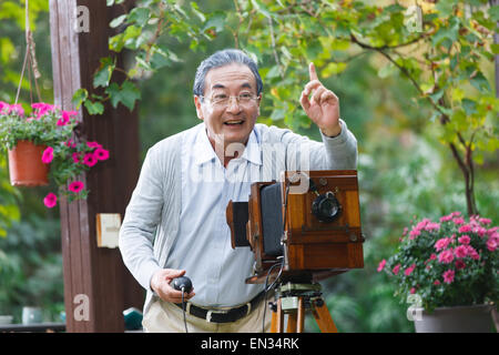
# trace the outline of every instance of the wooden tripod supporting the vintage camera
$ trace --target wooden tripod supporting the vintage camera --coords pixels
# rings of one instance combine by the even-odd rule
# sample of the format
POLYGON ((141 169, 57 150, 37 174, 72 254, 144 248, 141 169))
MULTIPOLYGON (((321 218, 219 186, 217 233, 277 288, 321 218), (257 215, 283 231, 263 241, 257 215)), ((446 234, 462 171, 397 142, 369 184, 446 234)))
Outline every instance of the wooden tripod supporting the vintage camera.
POLYGON ((273 311, 271 333, 284 333, 285 314, 288 315, 286 333, 303 333, 306 308, 310 308, 320 332, 338 332, 322 297, 319 284, 282 285, 277 293, 277 301, 271 305, 271 308, 273 311))

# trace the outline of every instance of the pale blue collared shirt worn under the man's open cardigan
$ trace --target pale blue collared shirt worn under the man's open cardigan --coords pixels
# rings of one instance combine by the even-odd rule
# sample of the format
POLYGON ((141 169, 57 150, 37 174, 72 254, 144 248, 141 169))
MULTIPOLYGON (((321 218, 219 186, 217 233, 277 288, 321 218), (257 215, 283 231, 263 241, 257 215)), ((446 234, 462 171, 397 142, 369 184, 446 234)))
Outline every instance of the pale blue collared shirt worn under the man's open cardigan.
POLYGON ((248 201, 251 184, 258 181, 262 158, 255 131, 241 158, 223 166, 211 145, 205 125, 182 146, 182 211, 179 236, 166 258, 166 268, 185 270, 197 306, 235 306, 252 300, 263 285, 247 285, 254 254, 231 246, 225 210, 228 201, 248 201))

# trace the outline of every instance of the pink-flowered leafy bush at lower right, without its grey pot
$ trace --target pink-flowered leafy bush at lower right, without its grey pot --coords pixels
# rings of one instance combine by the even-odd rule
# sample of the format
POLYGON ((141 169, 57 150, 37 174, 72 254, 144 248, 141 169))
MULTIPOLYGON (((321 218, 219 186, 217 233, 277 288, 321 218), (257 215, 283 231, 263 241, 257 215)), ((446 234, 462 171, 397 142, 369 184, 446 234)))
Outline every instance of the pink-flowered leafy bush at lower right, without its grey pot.
POLYGON ((436 307, 483 304, 499 297, 499 227, 478 215, 465 219, 452 212, 432 222, 424 219, 405 229, 396 253, 381 260, 406 302, 418 294, 427 311, 436 307))

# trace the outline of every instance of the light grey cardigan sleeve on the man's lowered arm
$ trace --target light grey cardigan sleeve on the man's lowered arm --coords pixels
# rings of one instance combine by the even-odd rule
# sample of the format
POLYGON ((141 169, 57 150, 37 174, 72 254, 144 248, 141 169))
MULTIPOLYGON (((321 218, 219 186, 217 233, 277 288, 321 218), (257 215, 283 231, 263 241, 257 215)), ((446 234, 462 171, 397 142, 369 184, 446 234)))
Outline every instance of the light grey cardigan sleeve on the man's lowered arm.
POLYGON ((139 182, 120 229, 119 247, 125 266, 135 280, 151 291, 152 275, 160 270, 153 243, 163 209, 161 163, 154 148, 147 151, 139 182))

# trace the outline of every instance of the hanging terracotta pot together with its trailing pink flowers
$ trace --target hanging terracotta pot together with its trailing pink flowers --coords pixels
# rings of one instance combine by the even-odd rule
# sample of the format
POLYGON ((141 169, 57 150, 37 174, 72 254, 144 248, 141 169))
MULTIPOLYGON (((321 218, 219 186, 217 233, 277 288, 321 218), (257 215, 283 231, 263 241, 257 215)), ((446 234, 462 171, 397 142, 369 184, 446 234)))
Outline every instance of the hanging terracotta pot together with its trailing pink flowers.
MULTIPOLYGON (((31 109, 26 114, 20 104, 0 102, 0 148, 9 151, 12 184, 42 185, 52 179, 69 202, 85 199, 89 191, 77 179, 99 161, 108 160, 109 151, 75 134, 77 112, 43 102, 33 103, 31 109)), ((43 199, 49 209, 57 201, 53 192, 43 199)))

